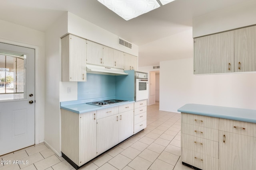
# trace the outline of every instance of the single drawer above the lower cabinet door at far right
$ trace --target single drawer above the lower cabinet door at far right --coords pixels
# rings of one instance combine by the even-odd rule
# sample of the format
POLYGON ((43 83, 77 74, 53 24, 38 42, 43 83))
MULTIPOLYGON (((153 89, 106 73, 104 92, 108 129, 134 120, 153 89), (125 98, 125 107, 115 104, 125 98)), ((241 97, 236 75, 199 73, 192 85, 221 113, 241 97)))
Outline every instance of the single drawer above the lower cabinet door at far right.
POLYGON ((220 119, 220 130, 256 137, 256 123, 220 119))

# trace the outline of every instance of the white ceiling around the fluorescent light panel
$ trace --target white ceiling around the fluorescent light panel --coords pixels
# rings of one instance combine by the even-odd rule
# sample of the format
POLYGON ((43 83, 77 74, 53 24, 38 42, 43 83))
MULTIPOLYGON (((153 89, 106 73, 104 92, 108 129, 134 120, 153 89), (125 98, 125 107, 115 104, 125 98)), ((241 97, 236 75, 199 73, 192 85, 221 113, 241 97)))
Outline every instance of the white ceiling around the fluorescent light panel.
POLYGON ((250 0, 175 0, 125 21, 97 0, 1 0, 0 20, 46 31, 64 12, 139 47, 139 66, 192 56, 192 19, 250 0))

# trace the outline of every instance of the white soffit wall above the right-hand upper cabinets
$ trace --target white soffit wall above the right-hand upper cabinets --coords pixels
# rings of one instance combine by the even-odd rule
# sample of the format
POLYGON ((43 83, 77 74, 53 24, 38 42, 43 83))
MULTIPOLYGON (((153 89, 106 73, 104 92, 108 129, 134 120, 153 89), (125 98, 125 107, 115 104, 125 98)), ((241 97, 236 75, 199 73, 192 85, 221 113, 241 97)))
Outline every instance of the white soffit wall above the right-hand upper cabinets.
POLYGON ((254 25, 255 9, 252 0, 193 18, 193 37, 254 25))

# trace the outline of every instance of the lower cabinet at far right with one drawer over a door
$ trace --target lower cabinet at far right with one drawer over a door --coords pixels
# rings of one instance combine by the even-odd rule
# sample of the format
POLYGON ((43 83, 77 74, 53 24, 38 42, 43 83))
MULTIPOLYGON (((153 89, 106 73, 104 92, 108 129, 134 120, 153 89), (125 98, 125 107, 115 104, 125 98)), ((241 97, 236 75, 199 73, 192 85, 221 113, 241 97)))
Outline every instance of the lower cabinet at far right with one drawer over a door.
POLYGON ((254 170, 256 124, 220 119, 220 170, 254 170))

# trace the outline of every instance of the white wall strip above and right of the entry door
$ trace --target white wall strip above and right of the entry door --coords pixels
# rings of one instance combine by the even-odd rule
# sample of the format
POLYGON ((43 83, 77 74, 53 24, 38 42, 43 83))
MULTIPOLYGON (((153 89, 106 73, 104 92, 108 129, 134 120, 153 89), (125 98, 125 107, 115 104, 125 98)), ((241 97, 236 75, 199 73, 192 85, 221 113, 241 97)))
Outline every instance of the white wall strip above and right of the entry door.
POLYGON ((44 44, 45 35, 24 26, 0 20, 0 41, 36 49, 35 60, 35 142, 44 141, 44 44))

